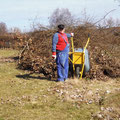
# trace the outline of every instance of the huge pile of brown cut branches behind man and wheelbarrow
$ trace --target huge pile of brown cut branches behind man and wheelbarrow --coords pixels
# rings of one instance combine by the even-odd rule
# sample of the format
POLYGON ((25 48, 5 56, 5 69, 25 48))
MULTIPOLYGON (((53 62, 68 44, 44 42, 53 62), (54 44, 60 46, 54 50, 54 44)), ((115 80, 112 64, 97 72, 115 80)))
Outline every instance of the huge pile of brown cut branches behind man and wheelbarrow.
MULTIPOLYGON (((76 27, 66 30, 74 32, 75 48, 84 47, 88 33, 91 41, 88 45, 90 54, 90 72, 86 77, 102 79, 120 77, 120 28, 86 28, 76 27)), ((56 65, 51 58, 52 36, 55 31, 44 29, 29 33, 24 48, 19 55, 19 68, 31 73, 42 73, 47 78, 56 76, 56 65)))

